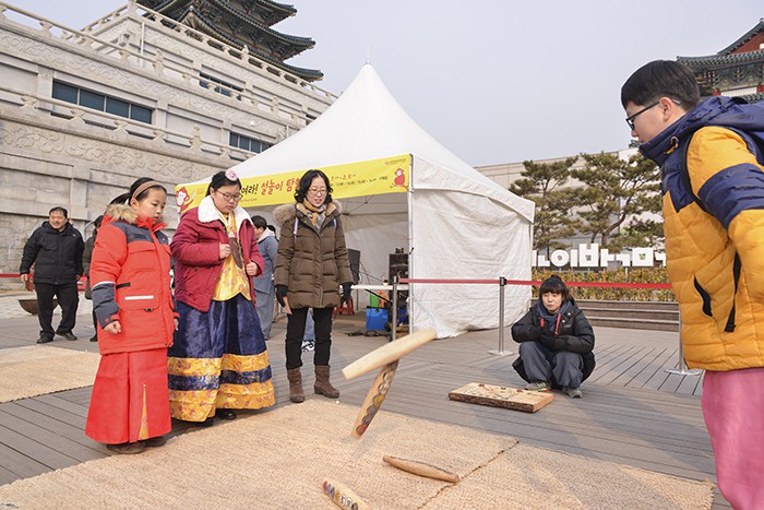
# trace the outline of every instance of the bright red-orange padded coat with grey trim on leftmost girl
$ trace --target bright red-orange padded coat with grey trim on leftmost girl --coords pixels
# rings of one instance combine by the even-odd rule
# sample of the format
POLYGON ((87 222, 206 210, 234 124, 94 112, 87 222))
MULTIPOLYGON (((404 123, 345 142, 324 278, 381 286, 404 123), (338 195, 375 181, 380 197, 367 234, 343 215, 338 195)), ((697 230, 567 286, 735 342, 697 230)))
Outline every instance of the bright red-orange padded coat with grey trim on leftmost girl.
POLYGON ((104 216, 91 260, 102 355, 172 345, 177 313, 164 227, 127 205, 110 205, 104 216), (114 321, 120 322, 120 333, 103 330, 114 321))

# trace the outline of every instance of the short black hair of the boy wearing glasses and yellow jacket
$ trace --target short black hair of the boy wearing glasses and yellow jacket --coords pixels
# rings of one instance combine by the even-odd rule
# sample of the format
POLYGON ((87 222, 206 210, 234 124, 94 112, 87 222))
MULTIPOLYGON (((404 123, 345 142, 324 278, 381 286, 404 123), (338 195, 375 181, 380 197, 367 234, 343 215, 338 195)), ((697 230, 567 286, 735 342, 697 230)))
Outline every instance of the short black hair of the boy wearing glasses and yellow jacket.
POLYGON ((661 97, 678 102, 687 111, 701 102, 697 80, 692 70, 673 60, 654 60, 629 76, 621 87, 621 105, 647 106, 661 97))

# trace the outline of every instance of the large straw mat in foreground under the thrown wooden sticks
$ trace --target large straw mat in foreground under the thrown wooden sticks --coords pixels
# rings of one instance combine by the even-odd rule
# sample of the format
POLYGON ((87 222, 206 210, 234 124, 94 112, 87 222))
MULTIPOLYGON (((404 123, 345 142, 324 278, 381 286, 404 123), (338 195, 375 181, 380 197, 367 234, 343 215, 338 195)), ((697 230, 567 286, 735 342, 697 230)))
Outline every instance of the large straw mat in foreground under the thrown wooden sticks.
POLYGON ((357 407, 319 398, 0 486, 17 508, 317 508, 331 478, 370 508, 709 508, 711 484, 564 455, 501 436, 382 411, 350 437, 357 407), (515 454, 516 452, 516 454, 515 454), (413 459, 451 484, 385 464, 413 459), (559 466, 559 467, 558 467, 559 466))

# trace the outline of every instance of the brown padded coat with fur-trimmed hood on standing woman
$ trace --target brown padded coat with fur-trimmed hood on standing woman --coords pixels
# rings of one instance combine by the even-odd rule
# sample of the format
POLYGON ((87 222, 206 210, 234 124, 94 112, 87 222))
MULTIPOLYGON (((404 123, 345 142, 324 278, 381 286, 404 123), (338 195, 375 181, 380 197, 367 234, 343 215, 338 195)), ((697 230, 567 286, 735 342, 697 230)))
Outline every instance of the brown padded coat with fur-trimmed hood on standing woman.
POLYGON ((274 222, 282 226, 273 283, 287 286, 290 308, 337 307, 339 285, 353 283, 341 210, 337 202, 330 202, 321 229, 300 203, 273 211, 274 222))

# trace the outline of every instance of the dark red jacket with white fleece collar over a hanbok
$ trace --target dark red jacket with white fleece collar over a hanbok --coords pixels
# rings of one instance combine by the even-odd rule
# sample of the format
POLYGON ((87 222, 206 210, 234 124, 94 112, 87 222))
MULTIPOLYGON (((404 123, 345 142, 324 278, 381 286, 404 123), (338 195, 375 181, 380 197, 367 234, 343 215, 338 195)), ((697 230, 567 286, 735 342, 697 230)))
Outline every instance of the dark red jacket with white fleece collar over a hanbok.
MULTIPOLYGON (((247 211, 239 206, 234 210, 234 216, 244 265, 254 262, 258 264, 258 274, 260 274, 263 272, 265 262, 258 249, 252 220, 247 211)), ((210 310, 215 285, 223 270, 223 260, 219 257, 220 244, 228 245, 230 239, 217 215, 215 203, 211 197, 205 197, 199 207, 183 213, 170 242, 175 259, 176 299, 199 311, 210 310)), ((248 280, 254 306, 254 293, 251 292, 254 288, 252 276, 248 280)))

